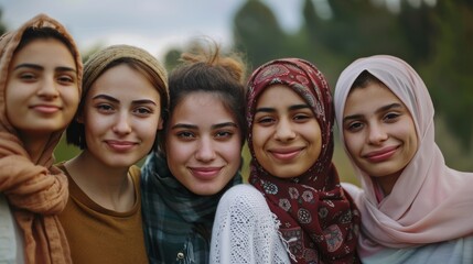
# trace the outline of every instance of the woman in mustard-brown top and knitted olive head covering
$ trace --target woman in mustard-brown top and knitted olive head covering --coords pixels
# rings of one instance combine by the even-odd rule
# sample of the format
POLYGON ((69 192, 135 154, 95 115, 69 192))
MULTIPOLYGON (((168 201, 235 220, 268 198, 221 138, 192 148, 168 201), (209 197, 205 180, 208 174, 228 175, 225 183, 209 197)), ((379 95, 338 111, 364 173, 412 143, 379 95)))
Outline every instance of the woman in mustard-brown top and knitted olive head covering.
POLYGON ((75 263, 147 263, 140 172, 168 108, 168 78, 148 52, 107 47, 84 66, 84 91, 67 142, 83 150, 60 164, 69 200, 60 215, 75 263))

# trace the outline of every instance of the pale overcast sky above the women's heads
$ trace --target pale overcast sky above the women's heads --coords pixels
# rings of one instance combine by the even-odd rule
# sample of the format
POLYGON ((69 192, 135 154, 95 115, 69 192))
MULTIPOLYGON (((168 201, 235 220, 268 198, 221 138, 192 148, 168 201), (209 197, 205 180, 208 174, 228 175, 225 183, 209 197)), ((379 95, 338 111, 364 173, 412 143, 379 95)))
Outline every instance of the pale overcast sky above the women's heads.
MULTIPOLYGON (((170 46, 207 35, 225 45, 246 0, 0 0, 2 22, 15 29, 43 12, 63 23, 86 51, 130 44, 162 58, 170 46)), ((288 31, 299 28, 302 0, 264 0, 288 31)))

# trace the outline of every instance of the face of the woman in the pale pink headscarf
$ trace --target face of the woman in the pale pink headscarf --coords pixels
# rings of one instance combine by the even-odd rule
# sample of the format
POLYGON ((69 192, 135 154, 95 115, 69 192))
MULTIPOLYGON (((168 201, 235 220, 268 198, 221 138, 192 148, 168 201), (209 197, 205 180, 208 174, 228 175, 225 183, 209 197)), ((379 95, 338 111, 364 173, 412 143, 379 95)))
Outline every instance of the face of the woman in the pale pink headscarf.
POLYGON ((356 165, 389 194, 418 148, 412 117, 384 84, 354 88, 343 112, 346 148, 356 165), (367 98, 375 98, 374 100, 367 98))

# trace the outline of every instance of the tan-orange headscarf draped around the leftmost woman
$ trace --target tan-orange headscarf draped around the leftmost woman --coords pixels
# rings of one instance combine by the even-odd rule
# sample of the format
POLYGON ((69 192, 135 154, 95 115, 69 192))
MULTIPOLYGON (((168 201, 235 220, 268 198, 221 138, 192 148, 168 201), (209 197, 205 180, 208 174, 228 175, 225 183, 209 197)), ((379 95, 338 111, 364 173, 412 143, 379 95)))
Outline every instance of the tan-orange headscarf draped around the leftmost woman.
POLYGON ((53 166, 53 151, 63 131, 51 134, 37 164, 24 150, 17 130, 7 118, 6 86, 8 70, 24 31, 28 28, 57 30, 74 48, 78 87, 83 65, 79 52, 66 29, 45 14, 39 14, 17 31, 0 38, 0 191, 11 206, 24 237, 26 263, 71 263, 65 233, 56 217, 67 202, 67 178, 53 166))

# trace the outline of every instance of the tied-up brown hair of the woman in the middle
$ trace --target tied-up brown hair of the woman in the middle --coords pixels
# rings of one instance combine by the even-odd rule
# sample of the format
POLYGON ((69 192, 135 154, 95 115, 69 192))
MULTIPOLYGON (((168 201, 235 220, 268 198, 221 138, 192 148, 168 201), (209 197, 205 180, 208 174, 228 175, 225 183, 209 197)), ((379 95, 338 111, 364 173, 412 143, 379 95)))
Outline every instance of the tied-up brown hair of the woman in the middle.
POLYGON ((193 92, 208 92, 218 96, 224 107, 235 118, 241 132, 241 145, 246 139, 245 120, 245 72, 246 66, 238 54, 222 55, 215 43, 204 50, 202 46, 181 55, 182 64, 169 77, 170 107, 164 116, 164 129, 159 132, 159 147, 165 154, 165 134, 169 120, 184 98, 193 92))

